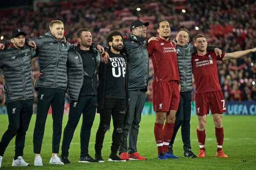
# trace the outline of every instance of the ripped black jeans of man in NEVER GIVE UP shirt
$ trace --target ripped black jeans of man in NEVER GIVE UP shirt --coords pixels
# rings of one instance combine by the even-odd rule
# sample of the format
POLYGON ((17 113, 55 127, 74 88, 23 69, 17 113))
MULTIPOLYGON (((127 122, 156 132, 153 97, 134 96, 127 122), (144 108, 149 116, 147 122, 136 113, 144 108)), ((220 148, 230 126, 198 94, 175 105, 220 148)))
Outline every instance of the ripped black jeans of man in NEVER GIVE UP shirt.
POLYGON ((110 129, 111 115, 113 119, 113 134, 111 153, 117 153, 119 149, 123 123, 126 114, 125 99, 105 98, 104 109, 100 113, 99 128, 96 133, 95 153, 101 155, 106 131, 110 129))

